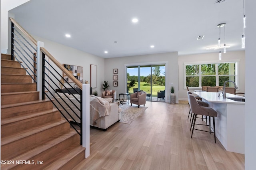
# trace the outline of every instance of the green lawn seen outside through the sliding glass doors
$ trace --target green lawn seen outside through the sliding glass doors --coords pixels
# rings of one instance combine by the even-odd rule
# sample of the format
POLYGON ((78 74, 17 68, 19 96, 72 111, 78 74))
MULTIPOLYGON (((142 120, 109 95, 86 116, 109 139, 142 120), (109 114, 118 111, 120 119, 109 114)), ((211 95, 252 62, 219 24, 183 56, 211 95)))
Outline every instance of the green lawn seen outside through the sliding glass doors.
MULTIPOLYGON (((130 81, 128 81, 130 83, 130 81)), ((138 88, 138 82, 135 83, 135 86, 130 88, 129 93, 133 93, 133 89, 138 88)), ((157 97, 157 92, 160 92, 160 90, 164 90, 165 86, 161 85, 152 85, 152 96, 157 97)), ((150 93, 150 84, 146 82, 140 82, 140 90, 146 91, 147 93, 150 93)))

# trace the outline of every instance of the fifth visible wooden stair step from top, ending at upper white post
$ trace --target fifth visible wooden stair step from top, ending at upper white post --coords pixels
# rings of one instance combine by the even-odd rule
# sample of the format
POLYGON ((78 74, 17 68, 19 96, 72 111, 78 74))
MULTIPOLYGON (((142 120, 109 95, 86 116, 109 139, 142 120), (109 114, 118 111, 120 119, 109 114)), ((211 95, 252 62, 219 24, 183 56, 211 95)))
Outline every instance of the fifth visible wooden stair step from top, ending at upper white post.
POLYGON ((36 83, 2 83, 2 93, 36 91, 36 83))

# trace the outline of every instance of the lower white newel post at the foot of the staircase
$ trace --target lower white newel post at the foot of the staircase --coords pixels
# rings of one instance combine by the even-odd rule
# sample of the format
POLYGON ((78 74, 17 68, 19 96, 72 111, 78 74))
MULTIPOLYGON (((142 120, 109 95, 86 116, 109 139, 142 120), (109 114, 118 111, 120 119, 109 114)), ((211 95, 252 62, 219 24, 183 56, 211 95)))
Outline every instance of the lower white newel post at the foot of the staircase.
POLYGON ((82 136, 85 158, 90 155, 90 84, 83 84, 82 136))

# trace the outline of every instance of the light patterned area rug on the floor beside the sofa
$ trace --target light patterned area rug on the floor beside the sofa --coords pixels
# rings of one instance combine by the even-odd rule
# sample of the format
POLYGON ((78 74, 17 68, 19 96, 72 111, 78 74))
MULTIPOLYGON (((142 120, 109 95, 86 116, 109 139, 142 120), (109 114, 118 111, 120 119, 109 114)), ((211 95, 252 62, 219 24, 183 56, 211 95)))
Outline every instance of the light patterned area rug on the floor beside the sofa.
POLYGON ((120 123, 130 124, 132 123, 140 114, 142 114, 148 107, 140 106, 130 106, 130 105, 119 105, 122 108, 120 123))

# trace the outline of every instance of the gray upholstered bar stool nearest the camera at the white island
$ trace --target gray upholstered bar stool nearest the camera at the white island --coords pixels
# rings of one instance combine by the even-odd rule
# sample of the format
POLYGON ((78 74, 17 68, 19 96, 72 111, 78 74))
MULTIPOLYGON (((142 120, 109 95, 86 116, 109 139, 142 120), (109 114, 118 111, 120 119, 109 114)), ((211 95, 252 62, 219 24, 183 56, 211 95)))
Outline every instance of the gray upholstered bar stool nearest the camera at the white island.
MULTIPOLYGON (((215 119, 214 119, 214 117, 217 117, 217 112, 214 109, 210 108, 210 107, 200 106, 198 104, 196 98, 193 95, 190 94, 190 95, 188 95, 188 97, 189 97, 189 100, 190 100, 191 112, 194 113, 194 116, 193 116, 194 123, 192 121, 192 124, 191 124, 191 127, 193 126, 191 138, 192 138, 194 129, 195 130, 200 130, 200 129, 196 129, 195 128, 195 125, 200 125, 200 124, 196 124, 196 116, 197 115, 205 115, 205 116, 209 116, 209 123, 210 123, 209 131, 210 131, 210 133, 211 133, 211 117, 212 117, 212 120, 213 120, 213 130, 214 130, 214 142, 216 143, 215 119)), ((206 124, 206 126, 208 126, 208 125, 206 124)), ((191 127, 190 127, 190 129, 191 129, 191 127)), ((208 132, 206 130, 201 130, 201 131, 208 132)))

